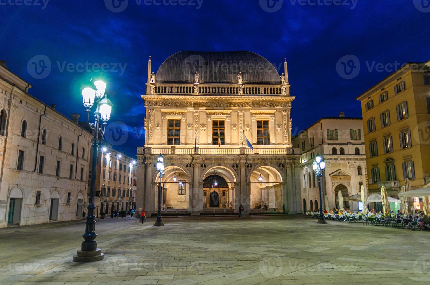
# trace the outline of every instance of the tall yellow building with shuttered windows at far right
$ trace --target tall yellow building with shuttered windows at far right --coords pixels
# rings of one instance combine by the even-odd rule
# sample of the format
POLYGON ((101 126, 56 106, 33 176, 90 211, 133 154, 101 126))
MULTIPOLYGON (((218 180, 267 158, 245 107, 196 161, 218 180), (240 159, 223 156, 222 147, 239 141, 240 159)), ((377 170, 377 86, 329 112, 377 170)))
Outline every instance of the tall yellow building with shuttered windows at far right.
POLYGON ((430 181, 430 62, 409 62, 356 99, 361 101, 369 191, 396 195, 405 178, 430 181))

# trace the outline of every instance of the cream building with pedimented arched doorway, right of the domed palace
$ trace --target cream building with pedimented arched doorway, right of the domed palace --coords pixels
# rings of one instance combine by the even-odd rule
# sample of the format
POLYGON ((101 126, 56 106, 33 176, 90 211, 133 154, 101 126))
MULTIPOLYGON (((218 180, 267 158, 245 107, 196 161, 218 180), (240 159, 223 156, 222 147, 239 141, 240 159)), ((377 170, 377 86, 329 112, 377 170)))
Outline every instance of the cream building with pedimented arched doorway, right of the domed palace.
MULTIPOLYGON (((339 208, 338 193, 347 197, 360 193, 366 185, 366 161, 361 118, 322 118, 293 138, 293 146, 300 149, 300 189, 303 211, 319 208, 318 177, 312 163, 316 155, 326 161, 326 169, 321 177, 322 205, 326 208, 325 195, 329 198, 329 208, 339 208)), ((357 202, 345 201, 344 208, 358 210, 357 202)))

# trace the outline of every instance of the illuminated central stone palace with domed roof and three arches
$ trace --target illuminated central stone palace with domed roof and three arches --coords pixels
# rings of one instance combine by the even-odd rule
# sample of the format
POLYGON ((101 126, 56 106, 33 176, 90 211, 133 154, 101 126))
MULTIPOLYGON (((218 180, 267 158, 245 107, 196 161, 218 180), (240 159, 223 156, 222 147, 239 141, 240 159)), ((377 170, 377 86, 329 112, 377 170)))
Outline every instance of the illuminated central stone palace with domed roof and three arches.
POLYGON ((273 65, 254 53, 188 51, 170 56, 151 82, 150 60, 147 92, 142 95, 146 131, 145 147, 138 149, 138 176, 144 183, 138 185, 137 207, 155 212, 160 182, 154 164, 163 154, 163 211, 200 215, 237 211, 242 204, 250 212, 266 204, 301 212, 300 192, 295 190, 300 183, 298 161, 291 142, 295 97, 289 93, 286 61, 284 69, 282 84, 273 65), (240 65, 239 57, 244 65, 267 68, 242 71, 240 76, 231 68, 213 68, 213 60, 221 66, 240 65), (221 188, 213 187, 217 180, 224 183, 221 188))

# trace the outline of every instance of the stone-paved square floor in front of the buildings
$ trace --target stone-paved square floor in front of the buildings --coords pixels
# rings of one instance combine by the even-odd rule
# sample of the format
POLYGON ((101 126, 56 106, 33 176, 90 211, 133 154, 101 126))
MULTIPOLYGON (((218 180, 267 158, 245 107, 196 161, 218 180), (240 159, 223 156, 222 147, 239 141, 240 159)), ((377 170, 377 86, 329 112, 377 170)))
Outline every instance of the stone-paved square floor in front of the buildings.
POLYGON ((0 284, 429 284, 430 232, 301 216, 96 225, 105 260, 71 262, 83 223, 0 232, 0 284))

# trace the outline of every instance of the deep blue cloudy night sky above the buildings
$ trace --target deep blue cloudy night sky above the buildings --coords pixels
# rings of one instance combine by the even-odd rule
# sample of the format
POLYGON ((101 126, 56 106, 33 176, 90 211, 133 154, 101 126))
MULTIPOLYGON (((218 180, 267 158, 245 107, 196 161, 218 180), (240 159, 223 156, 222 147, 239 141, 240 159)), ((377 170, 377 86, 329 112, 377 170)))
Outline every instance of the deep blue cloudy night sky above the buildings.
POLYGON ((25 1, 0 0, 0 59, 32 84, 29 93, 67 116, 85 114, 81 84, 100 74, 94 64, 107 64, 111 122, 129 130, 115 148, 132 156, 144 145, 140 95, 149 55, 155 72, 181 50, 247 50, 275 66, 286 56, 296 96, 293 136, 340 111, 361 117, 356 96, 390 74, 392 65, 430 59, 427 0, 25 1), (31 62, 40 59, 49 59, 50 71, 35 73, 31 62), (86 62, 89 72, 80 69, 86 62), (350 69, 357 63, 359 72, 350 69), (387 66, 376 70, 374 63, 387 66))

